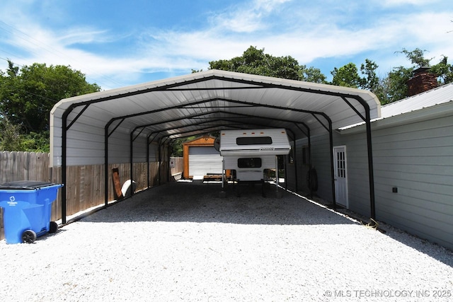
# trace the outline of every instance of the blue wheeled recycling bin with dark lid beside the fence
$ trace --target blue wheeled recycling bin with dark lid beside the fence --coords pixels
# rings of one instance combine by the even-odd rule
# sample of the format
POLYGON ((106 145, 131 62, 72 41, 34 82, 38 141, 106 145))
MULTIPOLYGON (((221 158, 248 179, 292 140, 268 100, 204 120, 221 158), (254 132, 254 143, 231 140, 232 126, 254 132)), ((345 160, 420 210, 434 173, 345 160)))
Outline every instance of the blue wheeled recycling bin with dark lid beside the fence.
POLYGON ((57 231, 50 216, 59 187, 62 185, 29 180, 0 185, 6 243, 33 243, 37 237, 57 231))

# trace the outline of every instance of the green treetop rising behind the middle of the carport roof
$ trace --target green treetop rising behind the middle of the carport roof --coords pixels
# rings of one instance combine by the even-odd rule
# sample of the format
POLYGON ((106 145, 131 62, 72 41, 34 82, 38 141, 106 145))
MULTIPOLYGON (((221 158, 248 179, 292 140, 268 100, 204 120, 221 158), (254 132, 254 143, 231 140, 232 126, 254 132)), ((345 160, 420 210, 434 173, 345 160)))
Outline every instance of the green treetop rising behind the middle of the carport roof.
POLYGON ((291 56, 274 57, 266 54, 264 49, 258 50, 253 46, 248 47, 241 57, 210 62, 210 69, 316 83, 323 83, 326 80, 326 76, 321 74, 319 69, 314 67, 307 69, 306 66, 299 65, 299 62, 291 56))

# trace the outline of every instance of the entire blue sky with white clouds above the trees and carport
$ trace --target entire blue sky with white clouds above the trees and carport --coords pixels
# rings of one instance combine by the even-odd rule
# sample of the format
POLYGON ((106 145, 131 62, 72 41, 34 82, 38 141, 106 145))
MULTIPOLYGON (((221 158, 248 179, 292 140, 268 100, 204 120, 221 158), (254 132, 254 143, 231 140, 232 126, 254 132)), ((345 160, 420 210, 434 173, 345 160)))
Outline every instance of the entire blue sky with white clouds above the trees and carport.
POLYGON ((103 89, 204 69, 253 45, 321 69, 372 59, 379 76, 426 50, 453 62, 450 0, 1 0, 6 59, 70 65, 103 89))

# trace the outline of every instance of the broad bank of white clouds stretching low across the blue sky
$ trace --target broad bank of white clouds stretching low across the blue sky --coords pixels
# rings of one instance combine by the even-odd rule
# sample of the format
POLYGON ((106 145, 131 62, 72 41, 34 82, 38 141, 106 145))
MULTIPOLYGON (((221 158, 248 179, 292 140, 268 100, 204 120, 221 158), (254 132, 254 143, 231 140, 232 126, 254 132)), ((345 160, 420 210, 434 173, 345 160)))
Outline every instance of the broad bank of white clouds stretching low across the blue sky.
MULTIPOLYGON (((386 3, 396 4, 396 1, 386 3)), ((427 57, 439 59, 441 54, 453 54, 453 33, 447 34, 449 28, 453 29, 451 12, 377 14, 356 27, 342 27, 337 23, 342 18, 334 14, 338 11, 329 15, 332 12, 318 8, 294 6, 294 2, 289 4, 286 0, 256 0, 211 16, 209 28, 150 29, 148 33, 129 37, 130 44, 119 46, 120 52, 115 53, 107 48, 124 36, 115 37, 110 31, 93 26, 51 30, 18 12, 20 21, 9 19, 8 22, 21 33, 8 35, 6 40, 28 52, 11 58, 18 64, 69 64, 87 74, 88 81, 96 81, 103 88, 137 83, 147 73, 206 69, 209 61, 240 56, 250 45, 265 48, 265 52, 275 56, 291 55, 309 66, 317 58, 351 57, 369 52, 376 53, 369 59, 386 69, 406 62, 402 55, 394 54, 403 47, 424 48, 429 50, 427 57), (289 9, 293 13, 285 11, 289 9), (312 20, 316 23, 311 23, 312 20), (280 21, 283 23, 277 23, 280 21), (76 48, 78 45, 100 50, 88 51, 88 48, 76 48), (397 61, 402 63, 395 64, 397 61)), ((437 62, 438 59, 433 60, 437 62)))

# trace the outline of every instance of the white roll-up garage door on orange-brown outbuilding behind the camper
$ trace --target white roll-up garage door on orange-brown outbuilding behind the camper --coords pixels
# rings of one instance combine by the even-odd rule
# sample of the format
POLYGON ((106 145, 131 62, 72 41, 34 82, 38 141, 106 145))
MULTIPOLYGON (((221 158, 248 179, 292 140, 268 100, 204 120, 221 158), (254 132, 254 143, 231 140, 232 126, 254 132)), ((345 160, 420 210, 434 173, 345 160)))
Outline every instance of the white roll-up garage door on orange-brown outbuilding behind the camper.
POLYGON ((214 147, 189 148, 189 175, 222 174, 222 156, 214 147))

